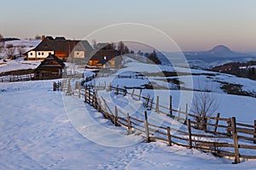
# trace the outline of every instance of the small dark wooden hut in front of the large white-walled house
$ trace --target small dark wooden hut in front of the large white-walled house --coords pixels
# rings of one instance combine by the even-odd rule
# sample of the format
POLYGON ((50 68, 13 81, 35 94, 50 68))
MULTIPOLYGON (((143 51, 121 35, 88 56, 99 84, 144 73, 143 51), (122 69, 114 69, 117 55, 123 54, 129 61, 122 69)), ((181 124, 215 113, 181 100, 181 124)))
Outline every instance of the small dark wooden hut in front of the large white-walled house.
POLYGON ((34 71, 35 80, 48 80, 61 78, 64 62, 57 58, 54 54, 49 54, 34 71))

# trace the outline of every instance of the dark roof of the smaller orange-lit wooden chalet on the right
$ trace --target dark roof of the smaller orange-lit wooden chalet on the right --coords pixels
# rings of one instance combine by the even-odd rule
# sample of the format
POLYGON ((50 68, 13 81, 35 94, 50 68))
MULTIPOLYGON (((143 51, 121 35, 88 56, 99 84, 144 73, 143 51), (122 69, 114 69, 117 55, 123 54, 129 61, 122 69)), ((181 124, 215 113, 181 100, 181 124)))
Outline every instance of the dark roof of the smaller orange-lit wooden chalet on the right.
POLYGON ((114 57, 118 56, 118 51, 115 49, 101 49, 101 50, 94 50, 90 54, 90 59, 104 59, 104 56, 107 57, 107 60, 113 59, 114 57))

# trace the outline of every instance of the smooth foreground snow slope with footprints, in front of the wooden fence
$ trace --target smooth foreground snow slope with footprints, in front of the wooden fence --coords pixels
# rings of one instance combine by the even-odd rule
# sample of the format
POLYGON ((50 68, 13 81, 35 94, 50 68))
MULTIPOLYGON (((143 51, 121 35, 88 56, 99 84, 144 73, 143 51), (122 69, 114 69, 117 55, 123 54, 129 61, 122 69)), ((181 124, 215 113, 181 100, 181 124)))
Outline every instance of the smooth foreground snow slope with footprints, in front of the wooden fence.
MULTIPOLYGON (((253 160, 234 165, 230 160, 199 150, 168 147, 160 142, 121 148, 91 142, 73 127, 61 92, 52 91, 52 81, 1 83, 0 91, 1 169, 254 169, 256 166, 253 160)), ((102 126, 113 126, 89 105, 84 107, 102 126)), ((95 135, 101 138, 101 134, 95 135)))

